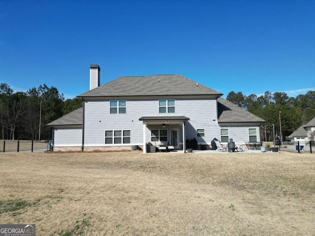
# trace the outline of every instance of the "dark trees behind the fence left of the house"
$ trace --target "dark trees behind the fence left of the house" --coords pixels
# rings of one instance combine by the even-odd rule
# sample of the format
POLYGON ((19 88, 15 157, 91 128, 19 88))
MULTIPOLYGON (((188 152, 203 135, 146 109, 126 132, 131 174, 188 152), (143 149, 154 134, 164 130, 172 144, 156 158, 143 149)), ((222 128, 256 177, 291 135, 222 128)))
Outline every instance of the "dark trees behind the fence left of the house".
POLYGON ((79 98, 64 101, 57 88, 40 85, 27 92, 13 92, 0 84, 0 128, 2 140, 50 140, 49 122, 82 107, 79 98))

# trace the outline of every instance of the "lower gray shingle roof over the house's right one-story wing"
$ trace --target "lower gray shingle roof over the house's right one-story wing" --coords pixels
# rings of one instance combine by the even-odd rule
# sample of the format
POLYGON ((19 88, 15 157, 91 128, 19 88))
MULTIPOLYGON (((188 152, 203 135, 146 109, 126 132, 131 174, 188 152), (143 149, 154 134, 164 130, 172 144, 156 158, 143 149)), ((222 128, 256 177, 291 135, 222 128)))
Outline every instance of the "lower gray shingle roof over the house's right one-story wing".
POLYGON ((221 97, 218 98, 218 122, 266 122, 252 113, 221 97))

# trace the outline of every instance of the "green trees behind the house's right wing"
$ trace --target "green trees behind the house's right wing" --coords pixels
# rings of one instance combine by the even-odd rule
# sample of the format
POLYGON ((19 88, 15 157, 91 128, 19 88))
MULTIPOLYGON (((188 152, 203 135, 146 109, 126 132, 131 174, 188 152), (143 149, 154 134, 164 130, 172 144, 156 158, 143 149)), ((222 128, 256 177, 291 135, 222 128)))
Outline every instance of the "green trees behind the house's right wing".
POLYGON ((285 92, 266 91, 258 97, 231 91, 226 99, 266 120, 261 125, 261 140, 272 140, 272 124, 275 125, 276 134, 285 140, 301 125, 315 118, 315 91, 311 90, 296 97, 289 97, 285 92))

